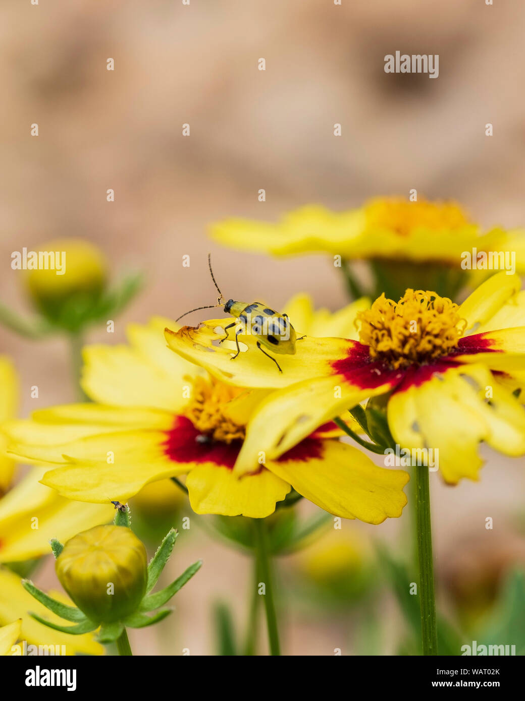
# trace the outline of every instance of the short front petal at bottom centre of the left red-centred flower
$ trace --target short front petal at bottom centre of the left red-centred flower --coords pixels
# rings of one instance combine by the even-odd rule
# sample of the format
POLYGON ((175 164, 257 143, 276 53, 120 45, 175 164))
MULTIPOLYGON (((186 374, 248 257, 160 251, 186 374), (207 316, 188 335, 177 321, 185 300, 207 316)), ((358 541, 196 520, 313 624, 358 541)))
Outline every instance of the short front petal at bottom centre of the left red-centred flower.
POLYGON ((272 472, 260 468, 255 475, 240 479, 232 470, 218 465, 195 467, 186 479, 190 504, 197 514, 244 515, 264 518, 275 510, 291 487, 272 472))

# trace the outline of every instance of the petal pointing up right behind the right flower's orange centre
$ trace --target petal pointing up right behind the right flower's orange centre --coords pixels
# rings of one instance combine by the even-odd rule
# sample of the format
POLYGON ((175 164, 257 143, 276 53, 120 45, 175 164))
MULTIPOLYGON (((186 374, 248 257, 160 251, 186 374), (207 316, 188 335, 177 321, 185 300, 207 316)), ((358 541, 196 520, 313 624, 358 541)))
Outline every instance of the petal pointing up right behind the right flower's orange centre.
POLYGON ((505 271, 479 285, 459 308, 461 318, 467 321, 465 333, 477 332, 479 325, 489 322, 520 287, 518 275, 507 275, 505 271))

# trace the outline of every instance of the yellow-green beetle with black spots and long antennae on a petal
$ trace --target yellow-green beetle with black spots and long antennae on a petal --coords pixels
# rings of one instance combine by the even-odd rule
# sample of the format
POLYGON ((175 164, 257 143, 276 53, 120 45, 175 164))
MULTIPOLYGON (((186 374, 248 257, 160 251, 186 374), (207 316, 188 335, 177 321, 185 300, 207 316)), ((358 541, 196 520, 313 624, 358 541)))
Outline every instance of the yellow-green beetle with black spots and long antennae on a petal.
POLYGON ((251 334, 257 338, 256 345, 261 353, 264 353, 267 358, 273 360, 279 372, 283 372, 277 360, 275 360, 270 353, 267 353, 262 346, 265 346, 265 348, 272 351, 272 353, 277 353, 279 355, 294 355, 297 350, 295 348, 295 341, 301 341, 305 336, 300 336, 300 338, 296 336, 295 329, 288 319, 288 314, 279 314, 277 311, 274 311, 274 309, 270 309, 265 304, 262 304, 262 302, 246 304, 246 302, 239 302, 234 299, 228 299, 228 301, 225 302, 224 295, 220 291, 215 281, 213 270, 211 269, 210 253, 208 253, 208 267, 210 268, 213 285, 215 285, 219 293, 218 304, 208 304, 207 306, 190 309, 190 311, 180 315, 175 321, 182 319, 183 316, 191 314, 194 311, 199 311, 199 309, 213 309, 222 306, 226 314, 231 314, 237 318, 236 321, 224 327, 225 336, 219 341, 219 343, 222 343, 222 341, 227 340, 227 329, 237 327, 235 331, 237 353, 232 355, 232 360, 235 360, 241 352, 241 348, 239 348, 239 334, 251 334))

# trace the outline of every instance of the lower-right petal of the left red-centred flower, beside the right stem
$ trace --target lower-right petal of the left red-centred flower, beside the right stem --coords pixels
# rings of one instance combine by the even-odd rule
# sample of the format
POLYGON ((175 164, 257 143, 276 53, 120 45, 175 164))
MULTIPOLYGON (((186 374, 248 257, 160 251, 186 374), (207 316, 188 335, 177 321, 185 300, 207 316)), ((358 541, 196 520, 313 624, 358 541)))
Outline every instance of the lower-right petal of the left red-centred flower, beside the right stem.
POLYGON ((285 455, 266 466, 321 509, 369 524, 401 516, 408 482, 403 470, 378 468, 360 450, 339 441, 321 442, 314 458, 294 459, 293 452, 289 459, 285 455))

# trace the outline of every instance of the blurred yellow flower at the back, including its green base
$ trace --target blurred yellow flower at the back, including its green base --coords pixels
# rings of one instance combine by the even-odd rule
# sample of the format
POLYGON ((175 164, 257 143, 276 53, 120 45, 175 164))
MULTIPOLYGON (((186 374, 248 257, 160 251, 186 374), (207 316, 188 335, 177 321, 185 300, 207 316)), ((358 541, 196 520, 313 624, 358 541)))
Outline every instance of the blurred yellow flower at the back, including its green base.
POLYGON ((356 259, 369 262, 376 297, 385 292, 397 298, 409 285, 454 297, 489 271, 525 272, 525 229, 485 232, 457 203, 421 198, 373 198, 344 212, 308 205, 277 224, 226 219, 211 226, 211 236, 222 245, 276 256, 331 254, 353 297, 361 283, 348 261, 356 259))

